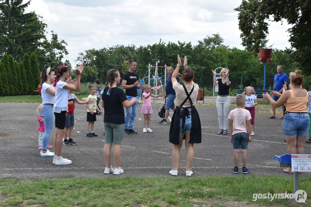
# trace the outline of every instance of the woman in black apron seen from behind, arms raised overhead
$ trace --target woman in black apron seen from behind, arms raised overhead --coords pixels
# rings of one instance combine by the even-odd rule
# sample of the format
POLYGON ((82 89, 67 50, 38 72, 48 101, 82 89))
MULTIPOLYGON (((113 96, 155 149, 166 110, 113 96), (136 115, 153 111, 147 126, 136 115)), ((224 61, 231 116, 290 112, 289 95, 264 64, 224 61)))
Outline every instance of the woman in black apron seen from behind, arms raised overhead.
POLYGON ((186 146, 186 176, 191 176, 191 166, 194 159, 194 143, 201 143, 201 121, 195 104, 197 101, 197 93, 199 86, 193 82, 194 72, 188 68, 187 57, 185 56, 183 66, 184 84, 179 84, 176 80, 181 60, 178 55, 178 65, 172 75, 172 84, 176 92, 176 108, 169 128, 169 142, 173 146, 173 169, 169 174, 177 176, 180 159, 180 148, 185 139, 186 146))

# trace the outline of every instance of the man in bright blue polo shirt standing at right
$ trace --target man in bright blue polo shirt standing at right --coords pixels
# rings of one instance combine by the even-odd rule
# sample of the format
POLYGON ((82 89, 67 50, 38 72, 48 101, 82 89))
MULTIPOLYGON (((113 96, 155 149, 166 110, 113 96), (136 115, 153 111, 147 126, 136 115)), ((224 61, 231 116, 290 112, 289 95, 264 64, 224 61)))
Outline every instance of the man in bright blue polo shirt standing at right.
MULTIPOLYGON (((285 73, 283 73, 283 67, 281 65, 277 66, 276 68, 277 70, 277 74, 274 76, 274 79, 273 79, 273 91, 277 91, 279 93, 282 93, 283 92, 283 85, 285 84, 288 84, 288 77, 285 73)), ((274 101, 277 101, 279 99, 278 96, 276 95, 272 95, 272 99, 274 101)), ((268 118, 269 119, 275 119, 276 118, 276 115, 275 115, 275 107, 272 106, 272 116, 269 116, 268 118)), ((285 116, 285 111, 284 111, 284 105, 282 106, 282 112, 283 112, 283 115, 280 119, 284 119, 284 116, 285 116)))

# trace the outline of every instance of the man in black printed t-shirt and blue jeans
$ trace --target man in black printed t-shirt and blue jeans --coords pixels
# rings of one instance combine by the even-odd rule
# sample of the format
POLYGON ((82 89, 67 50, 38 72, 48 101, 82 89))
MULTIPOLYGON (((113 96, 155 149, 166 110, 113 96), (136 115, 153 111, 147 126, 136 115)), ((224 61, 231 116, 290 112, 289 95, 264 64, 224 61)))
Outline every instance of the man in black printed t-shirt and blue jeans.
MULTIPOLYGON (((133 60, 129 61, 129 70, 123 75, 122 88, 125 89, 125 95, 128 101, 131 101, 133 97, 137 98, 137 88, 143 89, 144 86, 139 85, 138 74, 134 71, 136 70, 137 63, 133 60)), ((138 100, 138 98, 137 98, 138 100)), ((125 114, 125 129, 124 134, 137 134, 133 130, 134 120, 138 109, 138 101, 128 109, 126 109, 125 114)))

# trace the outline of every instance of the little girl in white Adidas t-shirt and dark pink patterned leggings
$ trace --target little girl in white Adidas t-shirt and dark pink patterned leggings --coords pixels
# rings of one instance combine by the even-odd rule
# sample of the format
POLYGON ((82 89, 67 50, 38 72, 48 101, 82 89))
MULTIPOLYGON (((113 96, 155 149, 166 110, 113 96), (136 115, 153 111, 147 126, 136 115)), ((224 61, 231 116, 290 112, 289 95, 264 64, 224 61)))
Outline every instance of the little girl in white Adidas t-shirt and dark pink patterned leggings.
POLYGON ((258 105, 257 97, 255 96, 255 89, 252 86, 248 86, 244 88, 244 92, 242 95, 245 95, 245 109, 249 110, 251 113, 251 126, 252 126, 252 133, 251 135, 255 135, 255 106, 258 105))

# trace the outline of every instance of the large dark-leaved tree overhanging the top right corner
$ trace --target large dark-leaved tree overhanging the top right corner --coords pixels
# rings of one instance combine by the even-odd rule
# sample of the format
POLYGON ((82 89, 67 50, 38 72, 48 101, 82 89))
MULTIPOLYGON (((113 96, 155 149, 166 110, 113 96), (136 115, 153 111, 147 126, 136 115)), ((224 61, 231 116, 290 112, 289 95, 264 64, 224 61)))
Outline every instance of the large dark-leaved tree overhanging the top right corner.
POLYGON ((291 43, 288 53, 291 54, 305 74, 311 74, 310 39, 311 1, 287 0, 243 0, 235 11, 239 11, 239 29, 242 45, 255 55, 267 43, 267 20, 279 22, 285 19, 292 25, 289 32, 291 43))

